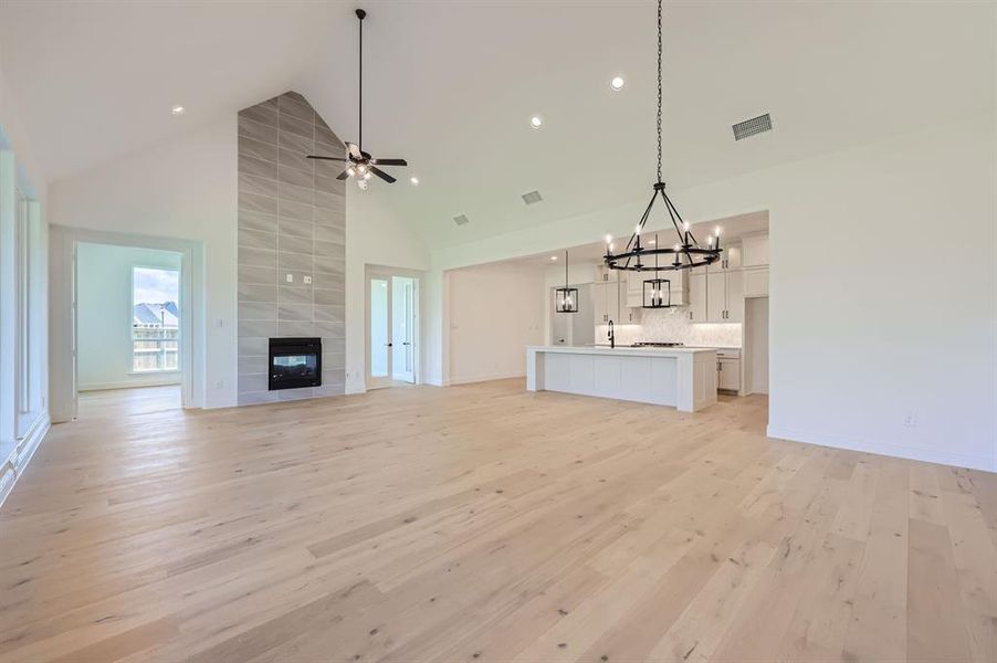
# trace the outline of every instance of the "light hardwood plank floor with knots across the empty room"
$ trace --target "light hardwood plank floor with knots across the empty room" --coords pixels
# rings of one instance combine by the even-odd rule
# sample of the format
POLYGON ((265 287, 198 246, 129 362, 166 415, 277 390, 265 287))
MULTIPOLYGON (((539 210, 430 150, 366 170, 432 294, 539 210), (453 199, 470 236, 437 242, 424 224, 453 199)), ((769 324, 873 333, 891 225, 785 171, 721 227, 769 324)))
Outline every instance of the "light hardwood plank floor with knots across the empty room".
POLYGON ((997 661, 997 475, 762 397, 157 393, 84 398, 0 511, 0 661, 997 661))

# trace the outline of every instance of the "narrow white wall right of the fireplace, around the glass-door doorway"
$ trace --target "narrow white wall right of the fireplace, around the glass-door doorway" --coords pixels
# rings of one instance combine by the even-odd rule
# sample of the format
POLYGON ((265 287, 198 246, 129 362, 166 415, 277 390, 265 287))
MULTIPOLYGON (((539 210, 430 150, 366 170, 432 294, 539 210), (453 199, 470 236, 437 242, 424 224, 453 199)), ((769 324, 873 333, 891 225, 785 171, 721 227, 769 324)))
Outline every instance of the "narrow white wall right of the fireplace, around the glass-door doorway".
MULTIPOLYGON (((396 185, 401 186, 401 185, 396 185)), ((366 275, 367 265, 395 267, 414 272, 429 269, 429 251, 416 238, 405 220, 384 203, 377 182, 360 191, 346 187, 346 392, 366 391, 367 337, 366 275)), ((424 275, 420 276, 419 324, 426 336, 424 275)), ((417 349, 422 356, 422 348, 417 349)))

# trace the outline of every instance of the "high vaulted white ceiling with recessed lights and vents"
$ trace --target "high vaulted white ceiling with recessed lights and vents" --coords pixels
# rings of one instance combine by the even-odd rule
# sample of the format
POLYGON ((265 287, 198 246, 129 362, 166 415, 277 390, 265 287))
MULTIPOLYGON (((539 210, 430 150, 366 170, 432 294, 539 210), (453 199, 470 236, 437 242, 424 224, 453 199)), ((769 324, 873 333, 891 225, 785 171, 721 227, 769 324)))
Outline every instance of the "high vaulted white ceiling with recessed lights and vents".
MULTIPOLYGON (((53 179, 288 88, 354 139, 354 7, 4 0, 0 56, 53 179), (170 116, 175 103, 188 113, 170 116)), ((428 242, 649 193, 653 2, 365 7, 365 148, 411 164, 366 194, 428 242), (545 200, 526 208, 533 189, 545 200)), ((991 2, 668 2, 665 179, 714 181, 993 109, 994 19, 991 2), (775 129, 735 143, 731 124, 764 112, 775 129)))

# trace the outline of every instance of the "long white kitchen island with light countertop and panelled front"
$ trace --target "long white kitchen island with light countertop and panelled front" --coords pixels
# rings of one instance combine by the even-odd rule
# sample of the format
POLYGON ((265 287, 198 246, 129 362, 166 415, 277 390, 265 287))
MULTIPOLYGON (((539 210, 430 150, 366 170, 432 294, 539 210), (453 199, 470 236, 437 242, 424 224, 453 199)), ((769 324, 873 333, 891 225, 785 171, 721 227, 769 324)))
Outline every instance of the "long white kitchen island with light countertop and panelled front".
POLYGON ((526 389, 671 406, 716 402, 713 348, 527 346, 526 389))

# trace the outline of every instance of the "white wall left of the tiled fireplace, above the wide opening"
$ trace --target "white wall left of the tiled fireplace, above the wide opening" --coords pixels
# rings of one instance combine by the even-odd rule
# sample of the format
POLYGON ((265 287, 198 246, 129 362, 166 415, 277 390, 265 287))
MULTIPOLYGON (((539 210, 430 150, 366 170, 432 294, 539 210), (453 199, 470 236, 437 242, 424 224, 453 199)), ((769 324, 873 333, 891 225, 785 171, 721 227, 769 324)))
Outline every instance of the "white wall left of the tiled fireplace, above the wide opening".
POLYGON ((233 112, 50 191, 52 223, 202 244, 207 328, 193 354, 203 358, 195 379, 208 408, 235 404, 235 145, 233 112))

